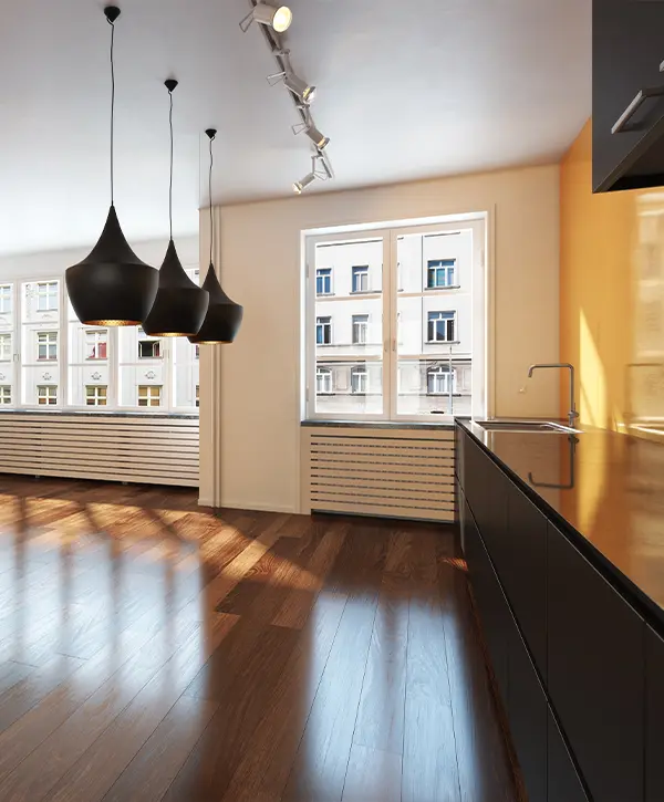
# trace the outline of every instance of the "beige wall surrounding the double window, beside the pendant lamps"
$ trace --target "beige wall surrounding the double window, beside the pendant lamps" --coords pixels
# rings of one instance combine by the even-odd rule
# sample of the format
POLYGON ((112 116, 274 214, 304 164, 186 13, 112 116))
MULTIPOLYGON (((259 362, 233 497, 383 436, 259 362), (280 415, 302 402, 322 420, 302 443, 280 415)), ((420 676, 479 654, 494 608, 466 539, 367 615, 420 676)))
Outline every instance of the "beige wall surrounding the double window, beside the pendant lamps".
POLYGON ((232 346, 204 348, 201 503, 299 509, 301 231, 471 211, 491 215, 495 413, 557 412, 557 376, 526 378, 559 354, 557 165, 224 207, 222 284, 245 322, 232 346))

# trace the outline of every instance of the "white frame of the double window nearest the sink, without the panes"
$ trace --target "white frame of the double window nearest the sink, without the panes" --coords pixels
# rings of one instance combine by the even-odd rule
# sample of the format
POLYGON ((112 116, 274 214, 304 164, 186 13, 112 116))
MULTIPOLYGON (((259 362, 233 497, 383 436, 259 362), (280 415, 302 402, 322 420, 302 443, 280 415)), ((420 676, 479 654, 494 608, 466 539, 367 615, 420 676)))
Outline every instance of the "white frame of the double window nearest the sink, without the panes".
MULTIPOLYGON (((302 304, 302 418, 309 420, 362 420, 364 423, 395 420, 414 421, 422 424, 452 423, 450 415, 406 415, 398 414, 398 369, 397 369, 397 302, 400 298, 407 298, 409 293, 400 292, 397 285, 397 240, 402 236, 454 233, 459 230, 471 230, 473 232, 473 264, 471 275, 468 279, 471 288, 471 416, 485 418, 494 414, 494 268, 492 268, 492 241, 494 241, 495 210, 479 212, 467 212, 448 215, 444 217, 432 217, 426 220, 397 220, 384 223, 367 226, 343 226, 329 229, 314 229, 302 232, 303 242, 303 304, 302 304), (317 346, 315 346, 315 309, 317 300, 321 296, 315 294, 315 259, 317 246, 332 244, 334 242, 349 242, 354 240, 382 239, 383 241, 383 281, 382 292, 353 293, 369 298, 383 298, 383 412, 381 414, 365 413, 322 413, 315 409, 317 396, 317 346)), ((353 265, 363 267, 363 265, 353 265)), ((456 270, 459 270, 458 261, 456 270)), ((352 271, 351 271, 352 275, 352 271)), ((458 273, 457 273, 458 277, 458 273)), ((352 279, 351 279, 352 281, 352 279)), ((351 285, 352 290, 352 285, 351 285)), ((455 311, 445 309, 449 303, 448 288, 426 289, 423 287, 418 293, 413 295, 427 299, 439 294, 447 298, 440 301, 443 311, 455 311)), ((334 299, 332 299, 334 301, 334 299)), ((318 315, 323 316, 323 315, 318 315)), ((326 315, 324 315, 326 316, 326 315)), ((426 345, 426 326, 428 315, 423 320, 424 344, 426 345)), ((458 319, 456 321, 458 336, 458 319)), ((364 357, 362 357, 364 358, 364 357)), ((426 350, 422 356, 423 362, 427 360, 426 350)), ((427 386, 428 389, 428 386, 427 386)))

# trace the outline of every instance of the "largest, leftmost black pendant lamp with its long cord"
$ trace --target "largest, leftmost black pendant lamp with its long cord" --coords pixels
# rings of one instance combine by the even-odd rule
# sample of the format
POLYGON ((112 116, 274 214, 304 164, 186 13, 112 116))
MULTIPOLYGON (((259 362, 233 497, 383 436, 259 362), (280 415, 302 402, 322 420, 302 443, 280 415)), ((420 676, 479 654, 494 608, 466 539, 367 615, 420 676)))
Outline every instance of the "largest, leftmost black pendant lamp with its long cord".
POLYGON ((129 248, 113 205, 113 126, 115 114, 115 69, 113 45, 116 6, 104 9, 111 25, 111 208, 96 246, 79 264, 65 272, 66 291, 85 325, 137 325, 148 313, 157 293, 159 274, 141 261, 129 248))

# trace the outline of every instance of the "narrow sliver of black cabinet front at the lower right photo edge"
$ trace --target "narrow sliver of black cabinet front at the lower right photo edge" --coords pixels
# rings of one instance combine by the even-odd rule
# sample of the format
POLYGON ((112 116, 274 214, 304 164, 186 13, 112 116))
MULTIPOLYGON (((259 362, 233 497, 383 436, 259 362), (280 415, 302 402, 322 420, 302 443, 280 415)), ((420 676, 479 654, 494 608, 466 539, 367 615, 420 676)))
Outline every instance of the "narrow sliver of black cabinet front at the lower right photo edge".
POLYGON ((645 802, 664 800, 664 640, 646 628, 645 802))

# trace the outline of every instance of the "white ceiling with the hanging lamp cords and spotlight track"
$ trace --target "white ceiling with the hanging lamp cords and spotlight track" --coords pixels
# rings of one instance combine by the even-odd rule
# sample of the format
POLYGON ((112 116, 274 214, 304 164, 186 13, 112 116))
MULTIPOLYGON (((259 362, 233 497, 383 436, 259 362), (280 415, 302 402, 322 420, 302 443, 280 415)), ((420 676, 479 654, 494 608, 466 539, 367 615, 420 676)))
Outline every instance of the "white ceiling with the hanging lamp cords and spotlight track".
MULTIPOLYGON (((108 37, 100 0, 13 0, 0 28, 0 253, 94 242, 108 206, 108 37)), ((124 0, 116 23, 116 207, 131 239, 214 200, 288 195, 309 140, 248 0, 124 0)), ((295 69, 319 87, 334 181, 317 191, 559 158, 591 111, 591 0, 290 0, 295 69)), ((304 202, 304 201, 302 201, 304 202)))

